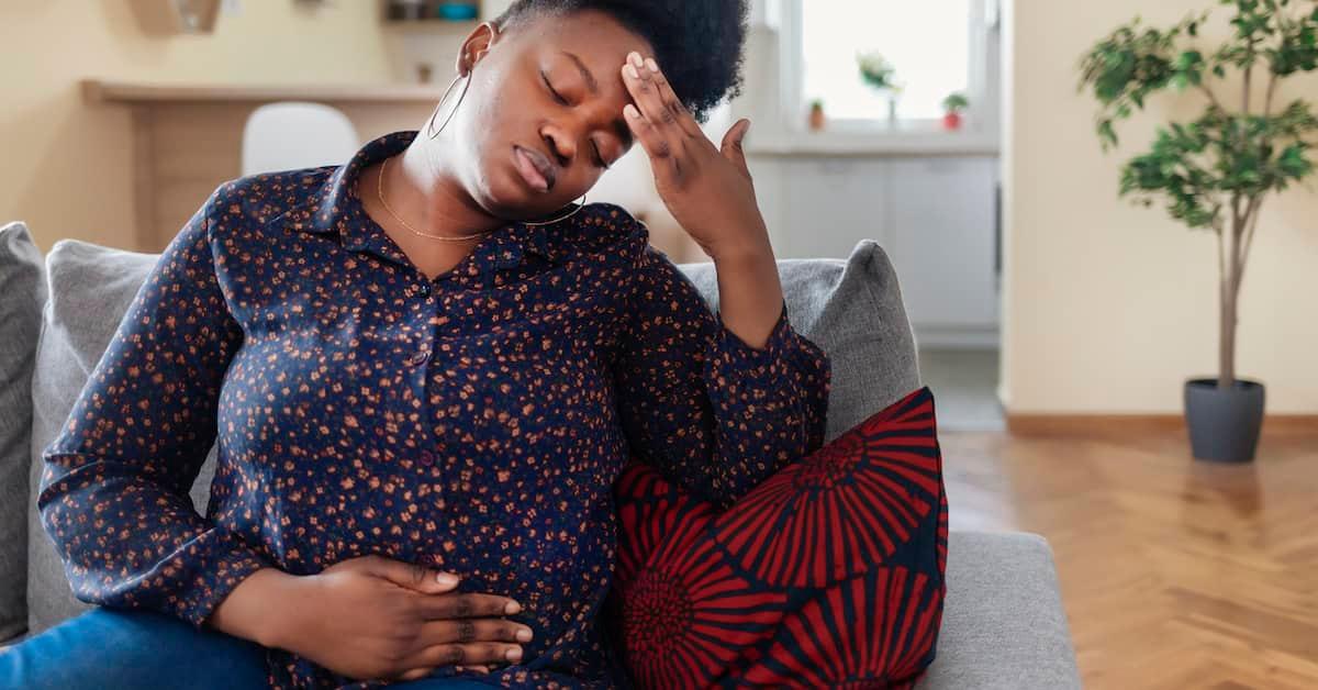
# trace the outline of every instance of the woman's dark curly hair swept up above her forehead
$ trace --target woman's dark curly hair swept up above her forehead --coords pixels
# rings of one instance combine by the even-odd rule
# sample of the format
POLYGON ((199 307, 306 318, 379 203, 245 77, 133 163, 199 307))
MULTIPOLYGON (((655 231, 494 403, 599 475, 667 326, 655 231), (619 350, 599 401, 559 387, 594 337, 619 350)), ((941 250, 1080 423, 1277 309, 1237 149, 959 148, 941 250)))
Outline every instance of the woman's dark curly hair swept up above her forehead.
POLYGON ((594 9, 646 38, 697 123, 742 92, 746 0, 517 0, 494 18, 503 30, 544 16, 594 9))

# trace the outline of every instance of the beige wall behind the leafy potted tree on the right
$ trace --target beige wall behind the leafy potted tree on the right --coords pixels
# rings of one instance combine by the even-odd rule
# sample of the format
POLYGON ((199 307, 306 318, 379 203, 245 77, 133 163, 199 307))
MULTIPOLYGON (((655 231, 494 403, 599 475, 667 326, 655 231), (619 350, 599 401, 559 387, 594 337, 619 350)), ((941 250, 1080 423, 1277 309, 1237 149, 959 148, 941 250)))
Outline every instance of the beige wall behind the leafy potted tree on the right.
MULTIPOLYGON (((1214 236, 1116 198, 1119 165, 1143 153, 1151 125, 1201 102, 1127 121, 1120 149, 1104 156, 1091 133, 1095 102, 1075 91, 1079 55, 1116 25, 1136 13, 1169 24, 1209 7, 1015 0, 1007 13, 1002 393, 1011 413, 1173 414, 1185 379, 1217 376, 1214 236)), ((1318 79, 1278 94, 1300 95, 1318 100, 1318 79)), ((1318 413, 1314 189, 1318 179, 1264 203, 1242 289, 1238 376, 1267 384, 1271 413, 1318 413)))

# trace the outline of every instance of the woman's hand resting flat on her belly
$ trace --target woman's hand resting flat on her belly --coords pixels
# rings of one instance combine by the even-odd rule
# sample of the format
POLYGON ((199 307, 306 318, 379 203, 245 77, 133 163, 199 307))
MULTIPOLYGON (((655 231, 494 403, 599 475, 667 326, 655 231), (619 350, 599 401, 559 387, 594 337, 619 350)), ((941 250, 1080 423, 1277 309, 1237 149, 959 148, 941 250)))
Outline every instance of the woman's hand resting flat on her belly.
POLYGON ((501 616, 521 606, 452 591, 457 579, 438 582, 440 573, 369 554, 301 577, 275 646, 355 679, 411 681, 448 664, 519 661, 518 643, 531 631, 501 616))

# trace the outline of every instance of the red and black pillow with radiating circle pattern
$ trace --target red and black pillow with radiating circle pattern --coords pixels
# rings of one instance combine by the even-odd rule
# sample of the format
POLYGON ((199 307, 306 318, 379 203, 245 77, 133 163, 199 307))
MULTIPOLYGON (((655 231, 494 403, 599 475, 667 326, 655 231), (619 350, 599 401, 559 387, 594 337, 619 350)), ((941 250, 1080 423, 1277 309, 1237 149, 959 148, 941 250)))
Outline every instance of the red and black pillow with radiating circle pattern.
POLYGON ((927 387, 722 513, 639 462, 614 495, 605 617, 638 687, 913 687, 933 661, 948 509, 927 387))

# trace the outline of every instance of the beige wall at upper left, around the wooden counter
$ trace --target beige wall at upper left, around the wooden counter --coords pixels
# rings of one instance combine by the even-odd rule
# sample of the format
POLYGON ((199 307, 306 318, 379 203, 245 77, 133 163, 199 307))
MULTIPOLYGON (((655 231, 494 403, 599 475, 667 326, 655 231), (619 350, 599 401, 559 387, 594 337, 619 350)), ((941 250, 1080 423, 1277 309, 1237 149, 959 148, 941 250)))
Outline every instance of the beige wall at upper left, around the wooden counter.
MULTIPOLYGON (((26 220, 42 251, 61 237, 128 245, 130 137, 120 106, 83 103, 78 80, 353 83, 403 79, 403 55, 456 45, 455 28, 377 29, 376 3, 322 9, 293 0, 244 0, 207 36, 149 36, 132 3, 5 0, 0 45, 0 222, 26 220)), ((436 75, 451 70, 436 66, 436 75)), ((200 203, 202 199, 198 199, 200 203)))

